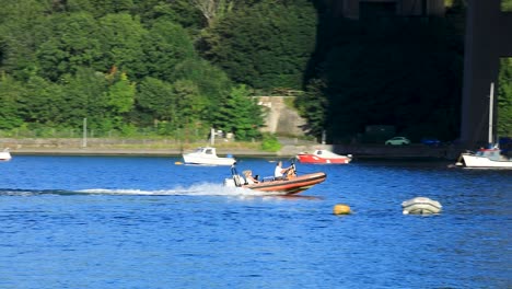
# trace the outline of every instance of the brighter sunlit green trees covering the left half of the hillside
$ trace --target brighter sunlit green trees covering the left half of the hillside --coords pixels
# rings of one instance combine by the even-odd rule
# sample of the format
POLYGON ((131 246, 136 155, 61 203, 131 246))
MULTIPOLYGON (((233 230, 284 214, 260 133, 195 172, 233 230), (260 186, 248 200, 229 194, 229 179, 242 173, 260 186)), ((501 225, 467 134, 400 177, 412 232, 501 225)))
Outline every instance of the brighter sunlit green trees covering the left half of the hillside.
MULTIPOLYGON (((218 18, 231 2, 218 2, 218 18)), ((233 85, 198 56, 207 22, 188 0, 0 4, 0 129, 79 128, 83 118, 96 131, 210 127, 233 85)))

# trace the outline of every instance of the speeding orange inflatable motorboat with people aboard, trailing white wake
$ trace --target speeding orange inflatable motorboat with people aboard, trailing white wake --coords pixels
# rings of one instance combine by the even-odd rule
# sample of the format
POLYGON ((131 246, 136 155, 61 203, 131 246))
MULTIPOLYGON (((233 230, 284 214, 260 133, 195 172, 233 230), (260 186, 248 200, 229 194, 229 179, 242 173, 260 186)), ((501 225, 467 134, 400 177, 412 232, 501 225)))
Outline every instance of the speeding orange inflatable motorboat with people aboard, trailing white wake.
POLYGON ((264 177, 258 183, 249 184, 236 172, 233 164, 231 166, 231 177, 224 180, 224 186, 243 187, 266 193, 279 193, 282 195, 294 195, 304 192, 327 178, 324 172, 296 175, 295 164, 292 163, 290 172, 282 178, 274 176, 264 177))

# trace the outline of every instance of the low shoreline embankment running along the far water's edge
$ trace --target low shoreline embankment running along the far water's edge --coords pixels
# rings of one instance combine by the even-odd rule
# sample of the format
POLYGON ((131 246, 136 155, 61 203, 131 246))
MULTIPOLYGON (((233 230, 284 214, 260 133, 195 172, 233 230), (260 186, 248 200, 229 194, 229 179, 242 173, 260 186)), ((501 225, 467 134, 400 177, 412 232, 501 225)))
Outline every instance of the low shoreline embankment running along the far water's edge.
MULTIPOLYGON (((214 146, 219 157, 235 158, 293 158, 299 152, 326 149, 338 154, 351 154, 353 159, 382 160, 456 160, 464 150, 456 146, 429 147, 420 143, 409 146, 384 146, 376 143, 321 144, 280 139, 279 151, 263 151, 252 143, 219 143, 214 146)), ((82 147, 79 139, 0 139, 0 149, 10 148, 12 155, 137 155, 137 157, 182 157, 205 143, 176 146, 170 141, 94 139, 82 147)))

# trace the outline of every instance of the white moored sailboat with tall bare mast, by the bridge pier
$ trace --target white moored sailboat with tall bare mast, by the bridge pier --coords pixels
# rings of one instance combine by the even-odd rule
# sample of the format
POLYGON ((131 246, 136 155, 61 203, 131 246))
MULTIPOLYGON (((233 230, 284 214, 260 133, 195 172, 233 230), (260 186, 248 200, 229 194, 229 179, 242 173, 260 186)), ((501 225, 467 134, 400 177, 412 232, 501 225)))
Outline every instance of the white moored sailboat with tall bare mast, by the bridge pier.
POLYGON ((468 167, 468 169, 512 169, 512 158, 505 154, 503 150, 499 148, 499 144, 493 143, 492 136, 492 108, 493 108, 493 91, 494 83, 491 83, 489 94, 489 138, 488 148, 480 148, 478 151, 466 151, 461 153, 456 166, 468 167))

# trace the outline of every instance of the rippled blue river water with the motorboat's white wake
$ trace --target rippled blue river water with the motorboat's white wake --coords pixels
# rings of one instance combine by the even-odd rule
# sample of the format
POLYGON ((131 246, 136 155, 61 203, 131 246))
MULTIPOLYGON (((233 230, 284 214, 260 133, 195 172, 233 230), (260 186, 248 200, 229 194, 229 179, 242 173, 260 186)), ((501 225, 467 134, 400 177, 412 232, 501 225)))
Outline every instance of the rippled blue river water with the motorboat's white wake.
MULTIPOLYGON (((298 164, 327 180, 283 198, 179 161, 0 163, 0 288, 512 288, 512 171, 298 164), (403 215, 417 196, 443 211, 403 215)), ((274 161, 237 167, 271 175, 274 161)))

